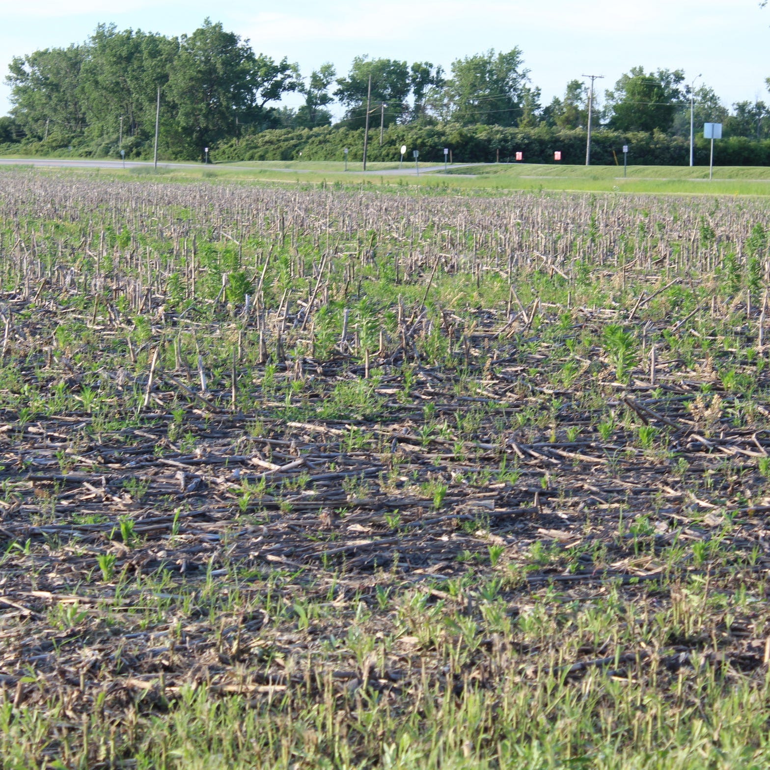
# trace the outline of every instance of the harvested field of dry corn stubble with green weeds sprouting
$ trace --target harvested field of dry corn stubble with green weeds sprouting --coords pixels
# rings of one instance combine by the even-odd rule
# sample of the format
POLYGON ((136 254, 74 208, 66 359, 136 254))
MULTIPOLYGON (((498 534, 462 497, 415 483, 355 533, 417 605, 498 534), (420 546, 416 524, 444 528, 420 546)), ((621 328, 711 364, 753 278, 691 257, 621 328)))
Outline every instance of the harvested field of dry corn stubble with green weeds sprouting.
POLYGON ((767 219, 2 172, 0 766, 766 767, 767 219))

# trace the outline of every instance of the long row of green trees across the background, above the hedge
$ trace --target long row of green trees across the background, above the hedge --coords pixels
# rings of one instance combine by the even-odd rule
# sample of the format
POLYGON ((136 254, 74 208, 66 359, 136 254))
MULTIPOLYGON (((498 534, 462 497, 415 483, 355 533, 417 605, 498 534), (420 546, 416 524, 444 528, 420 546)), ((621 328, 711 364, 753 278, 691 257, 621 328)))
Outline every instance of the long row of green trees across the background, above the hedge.
MULTIPOLYGON (((156 99, 162 103, 164 156, 196 159, 204 147, 254 143, 270 129, 360 129, 370 105, 377 129, 390 126, 498 126, 569 132, 588 125, 588 88, 567 83, 564 95, 543 103, 518 47, 455 59, 445 72, 432 62, 353 59, 345 75, 324 63, 303 77, 286 57, 257 54, 248 40, 206 19, 191 35, 168 37, 99 25, 82 44, 16 57, 6 79, 12 109, 0 118, 0 144, 22 142, 32 152, 72 147, 78 152, 146 156, 152 147, 156 99), (371 85, 370 85, 371 84, 371 85), (281 105, 302 95, 296 109, 281 105)), ((770 79, 768 79, 770 86, 770 79)), ((594 95, 594 129, 688 136, 695 125, 722 122, 725 137, 768 139, 765 102, 728 109, 714 89, 685 82, 681 69, 634 67, 604 98, 594 95)), ((326 132, 324 132, 326 135, 326 132)))

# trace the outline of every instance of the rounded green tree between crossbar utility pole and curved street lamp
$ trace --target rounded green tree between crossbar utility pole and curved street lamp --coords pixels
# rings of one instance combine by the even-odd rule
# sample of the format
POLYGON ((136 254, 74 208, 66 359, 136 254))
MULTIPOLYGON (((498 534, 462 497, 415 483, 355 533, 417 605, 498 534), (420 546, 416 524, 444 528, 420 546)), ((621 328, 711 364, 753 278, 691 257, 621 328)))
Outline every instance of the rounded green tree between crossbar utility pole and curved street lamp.
POLYGON ((614 90, 604 92, 605 115, 611 129, 618 131, 668 131, 681 105, 681 69, 644 72, 633 67, 621 75, 614 90))

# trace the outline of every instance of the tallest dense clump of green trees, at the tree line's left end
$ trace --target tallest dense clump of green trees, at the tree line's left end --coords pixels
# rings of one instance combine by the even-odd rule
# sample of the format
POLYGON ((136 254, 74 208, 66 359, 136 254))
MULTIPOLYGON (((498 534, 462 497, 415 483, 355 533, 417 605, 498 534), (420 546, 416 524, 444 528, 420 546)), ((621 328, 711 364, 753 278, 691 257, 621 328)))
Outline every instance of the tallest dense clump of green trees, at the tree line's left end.
MULTIPOLYGON (((326 81, 320 88, 311 79, 309 104, 319 107, 330 100, 322 91, 333 69, 313 77, 326 81)), ((161 89, 161 147, 188 158, 241 126, 280 124, 273 102, 300 86, 296 65, 255 55, 248 41, 209 19, 180 39, 99 25, 82 45, 13 59, 7 82, 17 132, 94 152, 116 152, 122 132, 129 155, 152 145, 161 89)), ((321 117, 314 115, 316 123, 321 117)))

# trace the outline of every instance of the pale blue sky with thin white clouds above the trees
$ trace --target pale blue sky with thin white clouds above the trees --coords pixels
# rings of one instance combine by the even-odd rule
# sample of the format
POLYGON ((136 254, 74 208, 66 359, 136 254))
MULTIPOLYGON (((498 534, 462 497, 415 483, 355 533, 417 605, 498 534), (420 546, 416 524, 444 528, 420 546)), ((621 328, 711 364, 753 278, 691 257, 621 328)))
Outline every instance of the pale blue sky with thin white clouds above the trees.
MULTIPOLYGON (((770 99, 770 6, 758 0, 0 0, 0 65, 5 73, 13 55, 82 41, 99 22, 178 35, 206 16, 303 74, 326 61, 344 73, 363 53, 449 69, 518 45, 544 102, 584 73, 604 75, 603 91, 634 65, 701 73, 727 105, 770 99)), ((0 85, 0 114, 8 95, 0 85)))

